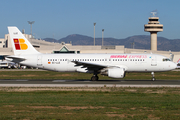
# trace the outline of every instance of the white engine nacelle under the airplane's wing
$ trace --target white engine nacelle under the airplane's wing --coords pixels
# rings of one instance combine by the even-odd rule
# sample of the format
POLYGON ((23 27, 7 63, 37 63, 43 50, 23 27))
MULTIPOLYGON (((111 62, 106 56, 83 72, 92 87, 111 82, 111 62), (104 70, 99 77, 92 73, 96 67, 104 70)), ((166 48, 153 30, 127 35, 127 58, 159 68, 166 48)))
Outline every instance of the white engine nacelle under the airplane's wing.
POLYGON ((110 68, 110 69, 108 69, 108 77, 124 78, 124 76, 125 76, 124 68, 110 68))

